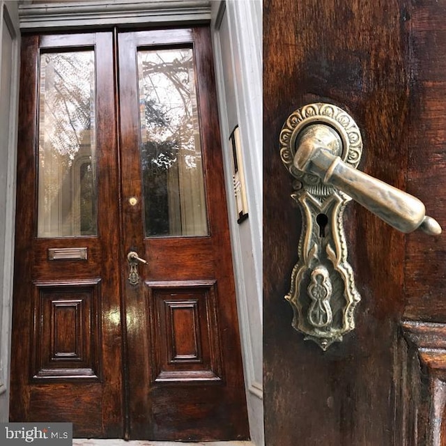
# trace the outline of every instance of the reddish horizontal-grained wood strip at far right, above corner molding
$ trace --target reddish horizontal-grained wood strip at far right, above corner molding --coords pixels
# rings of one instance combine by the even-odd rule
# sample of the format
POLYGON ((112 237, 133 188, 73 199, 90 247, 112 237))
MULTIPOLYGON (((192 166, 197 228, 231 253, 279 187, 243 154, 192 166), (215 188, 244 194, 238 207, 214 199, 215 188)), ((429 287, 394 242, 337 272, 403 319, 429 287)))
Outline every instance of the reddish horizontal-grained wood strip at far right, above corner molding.
MULTIPOLYGON (((410 31, 410 125, 408 192, 446 226, 446 5, 417 1, 407 22, 410 31)), ((406 317, 446 321, 444 298, 446 239, 417 233, 407 238, 406 317)))

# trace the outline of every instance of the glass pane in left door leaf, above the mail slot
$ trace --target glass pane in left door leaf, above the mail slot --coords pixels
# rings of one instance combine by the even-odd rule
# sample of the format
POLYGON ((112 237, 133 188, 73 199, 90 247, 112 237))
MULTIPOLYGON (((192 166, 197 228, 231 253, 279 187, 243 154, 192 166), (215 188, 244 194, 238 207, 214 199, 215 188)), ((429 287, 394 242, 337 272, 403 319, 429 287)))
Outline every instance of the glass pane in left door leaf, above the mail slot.
POLYGON ((40 55, 38 237, 95 236, 93 50, 40 55))

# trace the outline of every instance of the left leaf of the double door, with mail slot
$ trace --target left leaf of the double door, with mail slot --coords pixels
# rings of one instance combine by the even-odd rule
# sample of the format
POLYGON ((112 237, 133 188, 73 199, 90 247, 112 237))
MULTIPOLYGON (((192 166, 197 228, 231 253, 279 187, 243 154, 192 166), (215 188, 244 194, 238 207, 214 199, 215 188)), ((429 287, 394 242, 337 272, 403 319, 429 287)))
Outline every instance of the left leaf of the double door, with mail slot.
POLYGON ((22 38, 10 420, 70 421, 75 436, 84 437, 123 436, 121 271, 118 225, 110 224, 118 220, 112 45, 111 33, 22 38), (70 55, 79 52, 91 54, 91 91, 79 91, 75 82, 61 91, 57 78, 72 76, 70 55), (46 78, 45 63, 53 64, 46 78), (53 82, 54 89, 44 91, 43 82, 53 82), (54 140, 52 130, 69 124, 63 116, 91 111, 82 105, 90 94, 91 122, 72 118, 79 127, 54 140), (76 138, 91 128, 96 161, 76 164, 85 158, 84 141, 76 138), (57 160, 51 151, 58 151, 57 160), (63 170, 68 164, 71 173, 63 170), (87 212, 96 220, 93 231, 82 228, 79 217, 85 194, 72 192, 82 180, 82 164, 94 170, 98 185, 97 218, 87 212), (45 191, 54 203, 49 212, 37 199, 45 191), (75 203, 69 211, 66 201, 75 203))

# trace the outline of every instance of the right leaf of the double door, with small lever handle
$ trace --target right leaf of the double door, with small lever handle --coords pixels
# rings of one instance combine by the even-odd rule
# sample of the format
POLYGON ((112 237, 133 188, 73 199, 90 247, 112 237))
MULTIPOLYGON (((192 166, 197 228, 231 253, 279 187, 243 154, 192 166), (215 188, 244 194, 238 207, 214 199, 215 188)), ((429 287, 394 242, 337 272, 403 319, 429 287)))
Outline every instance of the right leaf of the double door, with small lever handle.
POLYGON ((118 45, 131 438, 246 438, 209 29, 118 45))

